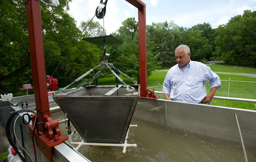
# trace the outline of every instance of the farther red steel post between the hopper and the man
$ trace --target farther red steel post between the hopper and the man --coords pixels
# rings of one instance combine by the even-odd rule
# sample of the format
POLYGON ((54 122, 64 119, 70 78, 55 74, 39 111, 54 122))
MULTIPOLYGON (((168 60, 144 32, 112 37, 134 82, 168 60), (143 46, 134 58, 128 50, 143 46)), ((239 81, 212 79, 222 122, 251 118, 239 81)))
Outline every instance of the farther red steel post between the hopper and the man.
POLYGON ((146 39, 146 4, 141 0, 126 0, 138 8, 139 25, 139 66, 141 97, 147 97, 147 39, 146 39))

